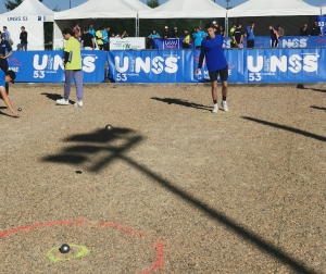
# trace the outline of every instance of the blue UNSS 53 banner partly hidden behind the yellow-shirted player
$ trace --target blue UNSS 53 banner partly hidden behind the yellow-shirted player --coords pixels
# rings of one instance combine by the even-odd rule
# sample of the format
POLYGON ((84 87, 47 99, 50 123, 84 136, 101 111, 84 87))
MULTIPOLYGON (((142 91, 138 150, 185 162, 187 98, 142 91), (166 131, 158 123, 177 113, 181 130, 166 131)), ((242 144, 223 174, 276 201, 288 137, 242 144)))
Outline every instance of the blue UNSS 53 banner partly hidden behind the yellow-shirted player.
MULTIPOLYGON (((9 68, 16 72, 15 82, 62 83, 64 71, 62 51, 14 51, 9 68)), ((104 80, 106 54, 104 51, 82 51, 84 83, 104 80)))

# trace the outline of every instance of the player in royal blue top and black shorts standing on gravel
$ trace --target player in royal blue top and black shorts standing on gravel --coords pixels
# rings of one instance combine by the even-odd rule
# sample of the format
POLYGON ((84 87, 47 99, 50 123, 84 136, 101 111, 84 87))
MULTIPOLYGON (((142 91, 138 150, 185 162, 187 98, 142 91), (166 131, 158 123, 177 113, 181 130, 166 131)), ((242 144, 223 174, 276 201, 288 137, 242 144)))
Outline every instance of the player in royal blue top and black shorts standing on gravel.
POLYGON ((228 111, 226 103, 227 96, 227 78, 228 78, 228 64, 224 55, 223 37, 215 34, 215 28, 212 23, 205 25, 208 39, 203 39, 201 42, 201 51, 196 74, 199 74, 203 60, 205 58, 206 66, 210 73, 210 79, 212 82, 212 98, 213 98, 213 113, 217 113, 217 76, 220 75, 222 82, 222 108, 224 111, 228 111))

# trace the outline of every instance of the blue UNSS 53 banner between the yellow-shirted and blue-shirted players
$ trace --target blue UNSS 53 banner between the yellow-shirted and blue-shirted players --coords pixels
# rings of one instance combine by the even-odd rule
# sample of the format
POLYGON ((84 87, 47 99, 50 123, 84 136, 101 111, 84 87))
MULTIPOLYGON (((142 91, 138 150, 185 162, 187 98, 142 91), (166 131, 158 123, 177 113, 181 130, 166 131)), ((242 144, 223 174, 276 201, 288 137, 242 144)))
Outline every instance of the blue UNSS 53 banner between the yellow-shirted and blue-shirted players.
POLYGON ((195 68, 191 50, 142 50, 108 52, 109 77, 116 83, 191 83, 195 68))

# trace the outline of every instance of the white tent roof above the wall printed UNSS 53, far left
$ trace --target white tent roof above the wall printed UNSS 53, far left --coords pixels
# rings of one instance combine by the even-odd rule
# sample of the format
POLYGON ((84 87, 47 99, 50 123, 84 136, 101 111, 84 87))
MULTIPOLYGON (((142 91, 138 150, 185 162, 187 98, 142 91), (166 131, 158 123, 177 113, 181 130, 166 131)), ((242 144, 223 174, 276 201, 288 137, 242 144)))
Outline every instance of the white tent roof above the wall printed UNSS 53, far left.
POLYGON ((39 0, 24 0, 16 9, 0 14, 0 17, 11 16, 45 16, 43 21, 53 22, 54 11, 48 9, 39 0))

